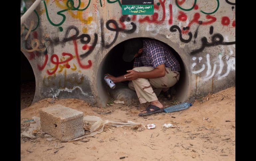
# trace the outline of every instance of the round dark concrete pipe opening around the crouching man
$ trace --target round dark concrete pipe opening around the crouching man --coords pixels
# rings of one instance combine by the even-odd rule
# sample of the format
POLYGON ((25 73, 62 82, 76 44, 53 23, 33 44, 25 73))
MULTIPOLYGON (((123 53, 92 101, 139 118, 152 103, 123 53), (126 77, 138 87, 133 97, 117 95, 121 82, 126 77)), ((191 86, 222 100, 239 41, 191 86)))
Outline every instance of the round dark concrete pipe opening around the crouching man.
MULTIPOLYGON (((136 92, 130 90, 128 87, 129 81, 116 83, 116 88, 114 89, 110 89, 110 87, 104 81, 104 74, 106 73, 117 77, 125 74, 127 70, 132 69, 133 61, 125 62, 122 59, 124 52, 124 43, 125 41, 117 44, 106 54, 98 70, 97 90, 102 103, 101 106, 103 107, 105 107, 106 103, 108 103, 111 99, 124 101, 125 104, 139 104, 136 92)), ((169 46, 169 48, 171 49, 181 66, 180 79, 173 86, 173 98, 177 98, 178 101, 183 102, 185 101, 184 99, 188 91, 188 72, 186 71, 186 67, 180 55, 171 46, 169 46)))

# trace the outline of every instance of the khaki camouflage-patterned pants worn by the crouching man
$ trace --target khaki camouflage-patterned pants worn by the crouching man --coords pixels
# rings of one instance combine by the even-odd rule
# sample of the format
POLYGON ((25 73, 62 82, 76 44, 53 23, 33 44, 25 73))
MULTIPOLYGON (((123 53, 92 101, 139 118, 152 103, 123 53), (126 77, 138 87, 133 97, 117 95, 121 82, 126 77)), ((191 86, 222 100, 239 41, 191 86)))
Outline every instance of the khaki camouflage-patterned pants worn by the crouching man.
MULTIPOLYGON (((153 67, 136 67, 133 70, 138 72, 147 72, 153 70, 153 67)), ((156 101, 157 96, 163 90, 168 91, 169 87, 174 86, 180 79, 180 73, 171 71, 170 68, 165 68, 165 76, 154 79, 138 78, 130 81, 128 86, 131 90, 136 91, 141 104, 146 102, 156 101)))

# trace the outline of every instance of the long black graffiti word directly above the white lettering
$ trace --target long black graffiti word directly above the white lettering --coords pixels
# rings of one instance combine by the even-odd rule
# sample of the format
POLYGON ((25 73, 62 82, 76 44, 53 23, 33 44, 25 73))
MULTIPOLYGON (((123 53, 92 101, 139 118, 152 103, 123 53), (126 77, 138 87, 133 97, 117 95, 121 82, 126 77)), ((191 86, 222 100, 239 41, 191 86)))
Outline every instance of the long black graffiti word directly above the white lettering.
POLYGON ((216 45, 232 45, 232 44, 235 44, 235 41, 232 41, 232 42, 223 42, 224 38, 221 34, 214 34, 212 37, 211 37, 211 42, 208 42, 207 41, 207 38, 206 37, 203 37, 201 39, 202 41, 202 46, 199 48, 199 49, 196 49, 196 50, 193 50, 191 52, 191 54, 196 54, 198 52, 201 52, 203 51, 203 49, 205 47, 208 47, 208 46, 216 46, 216 45))

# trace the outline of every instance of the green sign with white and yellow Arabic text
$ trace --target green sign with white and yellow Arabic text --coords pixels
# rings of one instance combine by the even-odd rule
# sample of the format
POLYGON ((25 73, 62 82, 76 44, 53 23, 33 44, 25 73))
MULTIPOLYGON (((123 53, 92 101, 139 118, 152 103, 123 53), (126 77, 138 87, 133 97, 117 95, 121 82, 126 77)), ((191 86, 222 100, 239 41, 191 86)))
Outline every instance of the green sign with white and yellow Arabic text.
POLYGON ((123 15, 153 15, 154 5, 122 5, 123 15))

